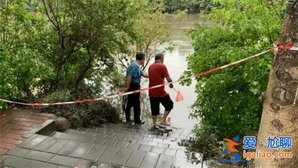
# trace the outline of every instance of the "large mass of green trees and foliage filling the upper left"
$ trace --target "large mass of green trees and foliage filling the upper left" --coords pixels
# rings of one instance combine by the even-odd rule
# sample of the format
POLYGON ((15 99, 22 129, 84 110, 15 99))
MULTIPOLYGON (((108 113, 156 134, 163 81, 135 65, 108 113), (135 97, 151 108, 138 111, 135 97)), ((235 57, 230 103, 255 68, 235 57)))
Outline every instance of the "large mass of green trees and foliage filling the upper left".
POLYGON ((103 94, 122 77, 115 55, 140 39, 144 8, 143 0, 0 0, 0 98, 103 94))

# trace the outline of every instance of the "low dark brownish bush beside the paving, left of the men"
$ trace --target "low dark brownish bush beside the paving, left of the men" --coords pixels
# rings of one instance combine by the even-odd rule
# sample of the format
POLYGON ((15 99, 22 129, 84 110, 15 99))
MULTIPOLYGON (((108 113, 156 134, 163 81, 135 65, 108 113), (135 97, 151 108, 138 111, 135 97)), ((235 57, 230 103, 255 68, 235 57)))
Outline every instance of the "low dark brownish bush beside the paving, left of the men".
MULTIPOLYGON (((94 98, 90 93, 88 89, 65 89, 45 95, 38 102, 66 102, 75 101, 82 97, 86 99, 94 98)), ((107 122, 119 123, 122 121, 122 112, 118 104, 105 100, 82 104, 39 107, 36 110, 65 117, 71 122, 73 128, 100 126, 107 122)))

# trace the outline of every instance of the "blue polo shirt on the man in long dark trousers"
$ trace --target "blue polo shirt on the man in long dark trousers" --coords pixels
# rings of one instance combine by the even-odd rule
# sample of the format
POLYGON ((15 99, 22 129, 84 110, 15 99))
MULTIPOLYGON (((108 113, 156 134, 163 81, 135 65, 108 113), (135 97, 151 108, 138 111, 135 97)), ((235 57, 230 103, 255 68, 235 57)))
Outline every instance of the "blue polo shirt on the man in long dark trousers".
POLYGON ((131 83, 140 83, 141 76, 144 75, 144 72, 141 70, 141 67, 137 61, 133 61, 126 70, 126 76, 131 75, 132 81, 131 83))

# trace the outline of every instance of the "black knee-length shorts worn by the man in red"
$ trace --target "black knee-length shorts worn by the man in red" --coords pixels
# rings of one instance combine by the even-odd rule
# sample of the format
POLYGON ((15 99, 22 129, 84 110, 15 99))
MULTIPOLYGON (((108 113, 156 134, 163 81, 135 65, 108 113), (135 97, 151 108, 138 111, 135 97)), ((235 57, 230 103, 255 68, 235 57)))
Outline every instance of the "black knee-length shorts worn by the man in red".
POLYGON ((151 114, 154 116, 159 115, 159 103, 161 103, 165 111, 168 112, 171 111, 174 106, 169 94, 165 97, 150 97, 151 114))

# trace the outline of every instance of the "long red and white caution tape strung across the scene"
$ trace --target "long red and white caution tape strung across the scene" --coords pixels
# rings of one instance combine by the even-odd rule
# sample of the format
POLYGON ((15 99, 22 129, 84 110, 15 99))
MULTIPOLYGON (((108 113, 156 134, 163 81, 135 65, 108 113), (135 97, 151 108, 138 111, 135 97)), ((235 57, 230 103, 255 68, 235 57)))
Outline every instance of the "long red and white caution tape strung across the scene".
MULTIPOLYGON (((274 53, 275 54, 278 52, 278 49, 286 49, 286 50, 296 50, 296 51, 298 51, 298 46, 296 46, 294 44, 278 45, 277 42, 274 42, 274 47, 275 47, 274 48, 274 53)), ((183 80, 188 80, 188 79, 191 79, 191 78, 195 78, 195 77, 199 77, 199 76, 204 76, 204 75, 207 75, 207 74, 210 74, 210 73, 213 73, 213 72, 222 70, 224 68, 227 68, 227 67, 230 67, 230 66, 233 66, 233 65, 242 63, 244 61, 253 59, 253 58, 257 57, 257 56, 261 56, 261 55, 263 55, 265 53, 268 53, 270 51, 271 51, 271 49, 270 50, 267 50, 267 51, 264 51, 262 53, 256 54, 254 56, 249 56, 249 57, 246 57, 244 59, 238 60, 236 62, 226 64, 224 66, 220 66, 220 67, 217 67, 217 68, 214 68, 214 69, 205 71, 205 72, 194 74, 194 75, 192 75, 190 77, 187 77, 187 78, 178 79, 178 80, 173 81, 173 82, 163 83, 163 84, 160 84, 160 85, 155 85, 155 86, 152 86, 152 87, 143 88, 143 89, 135 90, 135 91, 131 91, 131 92, 119 93, 119 94, 110 95, 110 96, 104 96, 104 97, 96 98, 96 99, 86 99, 86 100, 78 100, 78 101, 73 101, 73 102, 60 102, 60 103, 20 103, 20 102, 13 102, 13 101, 8 101, 8 100, 4 100, 4 99, 0 99, 0 101, 7 102, 7 103, 13 103, 13 104, 19 104, 19 105, 25 105, 25 106, 53 106, 53 105, 69 105, 69 104, 78 104, 78 103, 85 103, 85 102, 94 102, 94 101, 99 101, 99 100, 107 100, 107 99, 122 97, 122 96, 125 96, 125 95, 134 94, 134 93, 145 92, 147 90, 158 88, 158 87, 162 87, 162 86, 165 86, 165 85, 168 85, 168 84, 171 84, 171 83, 177 83, 177 82, 180 82, 180 81, 183 81, 183 80)))

